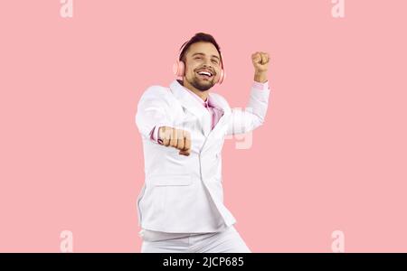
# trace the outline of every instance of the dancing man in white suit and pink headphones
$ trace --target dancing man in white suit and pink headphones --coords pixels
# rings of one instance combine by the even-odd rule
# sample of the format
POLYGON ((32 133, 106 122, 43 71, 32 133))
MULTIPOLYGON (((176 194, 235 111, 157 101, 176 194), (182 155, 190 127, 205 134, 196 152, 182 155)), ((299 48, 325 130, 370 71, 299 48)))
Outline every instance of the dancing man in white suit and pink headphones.
POLYGON ((196 33, 181 47, 169 88, 149 87, 137 105, 146 179, 137 199, 141 252, 251 252, 223 205, 225 135, 264 122, 270 89, 269 55, 251 55, 254 82, 246 110, 231 108, 210 89, 224 78, 213 36, 196 33))

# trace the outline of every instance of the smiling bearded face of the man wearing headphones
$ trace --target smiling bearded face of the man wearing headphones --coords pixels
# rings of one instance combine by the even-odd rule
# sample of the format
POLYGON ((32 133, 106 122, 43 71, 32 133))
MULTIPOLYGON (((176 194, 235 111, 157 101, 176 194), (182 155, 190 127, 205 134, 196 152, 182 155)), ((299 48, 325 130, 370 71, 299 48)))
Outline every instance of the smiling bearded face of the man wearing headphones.
POLYGON ((221 56, 211 42, 196 42, 185 54, 185 87, 206 91, 219 80, 221 56))

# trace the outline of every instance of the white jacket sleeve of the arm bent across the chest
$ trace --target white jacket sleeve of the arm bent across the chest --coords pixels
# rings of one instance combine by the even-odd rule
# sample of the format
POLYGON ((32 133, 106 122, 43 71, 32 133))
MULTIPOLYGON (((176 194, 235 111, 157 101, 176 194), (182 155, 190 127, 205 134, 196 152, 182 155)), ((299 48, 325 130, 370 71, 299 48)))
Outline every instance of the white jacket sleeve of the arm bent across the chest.
POLYGON ((148 88, 137 104, 136 125, 138 132, 147 139, 157 142, 157 130, 161 126, 172 126, 170 105, 166 96, 168 90, 153 86, 148 88), (152 132, 156 132, 152 135, 152 132))

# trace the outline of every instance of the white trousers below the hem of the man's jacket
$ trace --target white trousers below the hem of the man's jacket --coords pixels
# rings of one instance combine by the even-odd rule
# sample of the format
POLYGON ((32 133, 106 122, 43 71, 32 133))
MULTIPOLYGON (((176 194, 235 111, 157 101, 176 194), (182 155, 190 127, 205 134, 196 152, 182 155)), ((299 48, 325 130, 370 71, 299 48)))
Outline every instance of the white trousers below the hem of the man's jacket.
MULTIPOLYGON (((168 234, 169 235, 169 234, 168 234)), ((143 237, 142 253, 250 253, 233 225, 220 232, 176 234, 172 238, 156 240, 143 237)))

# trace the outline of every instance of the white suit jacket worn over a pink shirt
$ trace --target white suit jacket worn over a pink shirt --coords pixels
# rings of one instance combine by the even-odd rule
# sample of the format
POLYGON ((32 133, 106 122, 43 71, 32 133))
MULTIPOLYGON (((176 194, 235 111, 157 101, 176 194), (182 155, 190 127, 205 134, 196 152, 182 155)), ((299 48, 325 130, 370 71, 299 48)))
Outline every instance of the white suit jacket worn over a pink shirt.
POLYGON ((251 89, 246 109, 231 108, 210 93, 223 110, 211 130, 208 110, 176 79, 169 88, 149 87, 137 105, 136 124, 144 149, 145 183, 137 198, 138 225, 165 232, 213 232, 236 220, 223 204, 222 145, 225 135, 250 132, 266 116, 270 89, 251 89), (191 134, 191 154, 150 139, 153 127, 171 126, 191 134))

